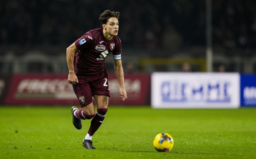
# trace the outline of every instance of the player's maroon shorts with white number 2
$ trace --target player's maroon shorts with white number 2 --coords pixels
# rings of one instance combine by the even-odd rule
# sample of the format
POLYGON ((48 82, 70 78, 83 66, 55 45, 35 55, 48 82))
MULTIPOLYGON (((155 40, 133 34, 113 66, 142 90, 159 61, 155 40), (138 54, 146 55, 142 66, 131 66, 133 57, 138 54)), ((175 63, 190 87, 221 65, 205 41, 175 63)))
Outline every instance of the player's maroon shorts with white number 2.
POLYGON ((78 83, 73 85, 73 89, 81 107, 92 103, 94 95, 107 95, 110 97, 108 74, 83 75, 76 72, 76 76, 78 83))

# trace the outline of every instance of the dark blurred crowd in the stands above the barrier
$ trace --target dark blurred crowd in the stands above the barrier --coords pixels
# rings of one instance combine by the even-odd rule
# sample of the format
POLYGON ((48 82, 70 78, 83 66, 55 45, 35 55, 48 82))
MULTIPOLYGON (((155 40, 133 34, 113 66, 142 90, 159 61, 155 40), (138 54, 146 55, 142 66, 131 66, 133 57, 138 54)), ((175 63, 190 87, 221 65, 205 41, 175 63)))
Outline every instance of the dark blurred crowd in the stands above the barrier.
MULTIPOLYGON (((204 0, 2 0, 0 45, 65 45, 120 12, 123 46, 177 50, 205 46, 204 0)), ((256 47, 256 1, 212 0, 214 47, 256 47)))

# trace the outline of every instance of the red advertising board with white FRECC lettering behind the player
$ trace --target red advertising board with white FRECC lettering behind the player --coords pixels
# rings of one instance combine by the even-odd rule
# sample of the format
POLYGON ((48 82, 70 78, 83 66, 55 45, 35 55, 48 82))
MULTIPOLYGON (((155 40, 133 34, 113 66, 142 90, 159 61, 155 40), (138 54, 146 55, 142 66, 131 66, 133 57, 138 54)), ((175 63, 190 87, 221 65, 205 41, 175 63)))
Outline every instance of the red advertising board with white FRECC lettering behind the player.
MULTIPOLYGON (((109 105, 149 104, 150 75, 125 75, 128 99, 119 97, 119 83, 109 74, 109 105)), ((12 76, 5 104, 79 105, 67 74, 16 74, 12 76)))

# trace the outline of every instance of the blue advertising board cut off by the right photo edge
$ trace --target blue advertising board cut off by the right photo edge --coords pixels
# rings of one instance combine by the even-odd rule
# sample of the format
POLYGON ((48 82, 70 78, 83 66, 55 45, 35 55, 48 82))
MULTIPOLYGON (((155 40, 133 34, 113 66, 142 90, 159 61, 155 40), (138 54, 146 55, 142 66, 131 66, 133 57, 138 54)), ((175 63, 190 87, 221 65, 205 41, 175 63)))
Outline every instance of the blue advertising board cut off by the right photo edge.
POLYGON ((256 106, 256 75, 241 74, 240 105, 256 106))

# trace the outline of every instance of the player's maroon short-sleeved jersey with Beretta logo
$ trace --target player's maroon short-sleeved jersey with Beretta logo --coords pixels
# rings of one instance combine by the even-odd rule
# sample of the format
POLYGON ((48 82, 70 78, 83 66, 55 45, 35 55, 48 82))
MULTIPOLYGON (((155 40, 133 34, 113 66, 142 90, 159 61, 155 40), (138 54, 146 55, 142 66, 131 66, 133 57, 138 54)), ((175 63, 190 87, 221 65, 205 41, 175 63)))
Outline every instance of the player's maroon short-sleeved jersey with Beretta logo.
POLYGON ((106 57, 112 54, 114 60, 121 59, 121 40, 118 36, 106 40, 103 28, 87 32, 75 44, 78 52, 74 59, 74 70, 80 74, 106 74, 106 57))

